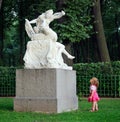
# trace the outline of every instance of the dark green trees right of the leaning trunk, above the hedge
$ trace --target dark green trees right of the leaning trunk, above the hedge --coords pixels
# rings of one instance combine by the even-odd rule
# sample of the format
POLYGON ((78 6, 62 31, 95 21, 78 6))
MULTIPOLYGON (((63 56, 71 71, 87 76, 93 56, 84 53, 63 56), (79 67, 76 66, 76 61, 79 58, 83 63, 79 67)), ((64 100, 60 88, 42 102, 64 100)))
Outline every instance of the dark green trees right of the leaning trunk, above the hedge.
POLYGON ((103 24, 111 60, 120 59, 120 4, 117 0, 102 3, 103 24))

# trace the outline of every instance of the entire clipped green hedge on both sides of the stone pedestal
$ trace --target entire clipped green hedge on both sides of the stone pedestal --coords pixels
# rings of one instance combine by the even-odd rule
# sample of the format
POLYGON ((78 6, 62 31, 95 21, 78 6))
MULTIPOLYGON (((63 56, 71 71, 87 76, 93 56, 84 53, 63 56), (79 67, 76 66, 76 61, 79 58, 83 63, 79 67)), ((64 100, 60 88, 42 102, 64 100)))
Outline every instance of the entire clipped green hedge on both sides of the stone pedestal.
MULTIPOLYGON (((78 96, 89 95, 89 80, 95 76, 100 81, 100 96, 120 97, 120 61, 79 63, 73 69, 77 73, 78 96)), ((0 67, 0 96, 15 96, 15 72, 15 67, 0 67)))

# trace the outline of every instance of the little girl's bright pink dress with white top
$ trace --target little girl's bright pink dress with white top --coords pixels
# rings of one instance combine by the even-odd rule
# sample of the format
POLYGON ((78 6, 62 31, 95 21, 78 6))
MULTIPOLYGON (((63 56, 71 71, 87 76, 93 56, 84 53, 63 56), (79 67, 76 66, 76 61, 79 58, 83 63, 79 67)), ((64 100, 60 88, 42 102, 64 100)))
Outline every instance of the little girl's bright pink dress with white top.
POLYGON ((92 98, 88 97, 88 102, 97 102, 100 100, 98 93, 97 93, 97 87, 95 85, 90 86, 90 93, 93 92, 92 98))

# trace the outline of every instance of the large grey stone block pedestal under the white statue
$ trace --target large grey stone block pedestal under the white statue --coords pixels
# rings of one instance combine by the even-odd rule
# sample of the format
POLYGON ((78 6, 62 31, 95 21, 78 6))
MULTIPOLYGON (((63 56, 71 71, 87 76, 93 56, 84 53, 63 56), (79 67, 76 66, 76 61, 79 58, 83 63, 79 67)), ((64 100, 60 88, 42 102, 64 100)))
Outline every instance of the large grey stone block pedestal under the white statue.
POLYGON ((17 69, 15 111, 61 113, 78 109, 76 71, 17 69))

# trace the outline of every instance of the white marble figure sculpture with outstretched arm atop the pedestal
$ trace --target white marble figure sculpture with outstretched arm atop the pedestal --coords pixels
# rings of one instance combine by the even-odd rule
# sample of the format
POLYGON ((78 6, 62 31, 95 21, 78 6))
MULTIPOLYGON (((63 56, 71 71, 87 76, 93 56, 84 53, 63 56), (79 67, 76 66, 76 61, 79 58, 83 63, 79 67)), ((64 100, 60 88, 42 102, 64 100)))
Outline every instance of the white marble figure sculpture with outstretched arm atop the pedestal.
POLYGON ((25 68, 62 68, 72 70, 72 67, 64 63, 62 53, 69 59, 74 59, 75 57, 65 50, 63 44, 57 42, 56 32, 49 27, 49 24, 54 19, 59 19, 64 15, 64 11, 53 13, 53 10, 48 10, 38 16, 37 19, 32 21, 26 19, 25 29, 31 41, 27 43, 23 58, 25 68), (33 23, 36 26, 32 27, 31 24, 33 23))

